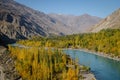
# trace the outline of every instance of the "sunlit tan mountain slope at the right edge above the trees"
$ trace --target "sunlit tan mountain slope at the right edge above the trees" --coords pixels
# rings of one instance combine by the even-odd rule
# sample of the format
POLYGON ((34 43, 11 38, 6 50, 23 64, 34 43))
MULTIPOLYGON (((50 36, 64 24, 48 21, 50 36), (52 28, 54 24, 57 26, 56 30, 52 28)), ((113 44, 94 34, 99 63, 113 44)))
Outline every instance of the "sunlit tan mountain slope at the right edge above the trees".
POLYGON ((89 31, 98 32, 102 29, 118 29, 120 28, 120 9, 113 12, 111 15, 103 19, 100 23, 93 26, 89 31))

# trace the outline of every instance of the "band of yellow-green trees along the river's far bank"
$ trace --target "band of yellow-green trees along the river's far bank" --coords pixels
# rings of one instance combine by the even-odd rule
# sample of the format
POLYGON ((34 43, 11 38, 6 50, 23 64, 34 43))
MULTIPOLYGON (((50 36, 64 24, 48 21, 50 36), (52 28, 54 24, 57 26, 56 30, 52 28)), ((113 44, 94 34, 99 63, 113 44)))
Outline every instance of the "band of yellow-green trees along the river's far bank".
POLYGON ((33 37, 18 41, 19 44, 36 47, 88 49, 120 58, 120 29, 103 29, 98 33, 83 33, 50 38, 33 37))

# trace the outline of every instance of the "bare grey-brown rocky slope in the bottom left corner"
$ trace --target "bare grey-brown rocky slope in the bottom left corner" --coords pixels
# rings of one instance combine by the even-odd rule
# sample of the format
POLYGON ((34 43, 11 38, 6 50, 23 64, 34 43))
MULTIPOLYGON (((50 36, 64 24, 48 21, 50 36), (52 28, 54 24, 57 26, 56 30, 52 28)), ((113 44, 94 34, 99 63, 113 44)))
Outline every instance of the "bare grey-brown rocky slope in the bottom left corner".
POLYGON ((15 69, 14 60, 2 46, 0 46, 0 80, 22 80, 15 69))

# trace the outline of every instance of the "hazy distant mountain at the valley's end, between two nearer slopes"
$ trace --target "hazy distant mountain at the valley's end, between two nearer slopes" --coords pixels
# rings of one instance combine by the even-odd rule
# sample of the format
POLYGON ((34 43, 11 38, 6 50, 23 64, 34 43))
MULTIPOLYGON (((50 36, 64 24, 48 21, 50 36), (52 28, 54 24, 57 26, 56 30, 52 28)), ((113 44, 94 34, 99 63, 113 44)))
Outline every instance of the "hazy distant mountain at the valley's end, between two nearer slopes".
POLYGON ((74 15, 64 15, 64 14, 48 14, 50 17, 54 18, 67 25, 68 28, 71 28, 73 33, 82 33, 86 32, 88 28, 97 24, 101 18, 96 16, 91 16, 88 14, 83 14, 80 16, 74 15))

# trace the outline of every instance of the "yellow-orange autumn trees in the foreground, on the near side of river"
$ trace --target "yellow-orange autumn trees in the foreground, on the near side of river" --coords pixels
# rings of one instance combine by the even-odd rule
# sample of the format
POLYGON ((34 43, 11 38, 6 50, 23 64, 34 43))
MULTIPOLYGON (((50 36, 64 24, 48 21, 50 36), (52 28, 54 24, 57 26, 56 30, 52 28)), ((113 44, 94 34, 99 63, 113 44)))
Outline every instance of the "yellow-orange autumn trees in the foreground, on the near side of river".
POLYGON ((58 49, 9 46, 9 51, 22 80, 78 80, 90 70, 58 49))

